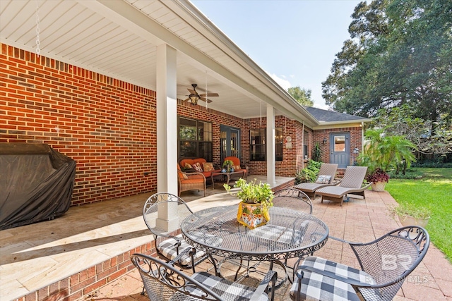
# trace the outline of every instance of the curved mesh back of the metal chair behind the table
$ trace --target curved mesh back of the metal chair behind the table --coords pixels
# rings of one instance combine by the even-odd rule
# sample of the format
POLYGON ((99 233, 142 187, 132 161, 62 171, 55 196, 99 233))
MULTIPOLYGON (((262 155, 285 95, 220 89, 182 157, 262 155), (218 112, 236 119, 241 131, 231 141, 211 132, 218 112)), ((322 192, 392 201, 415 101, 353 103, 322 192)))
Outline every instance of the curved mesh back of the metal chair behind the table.
POLYGON ((273 205, 289 207, 298 211, 312 213, 312 202, 306 193, 295 188, 283 188, 273 192, 273 205))

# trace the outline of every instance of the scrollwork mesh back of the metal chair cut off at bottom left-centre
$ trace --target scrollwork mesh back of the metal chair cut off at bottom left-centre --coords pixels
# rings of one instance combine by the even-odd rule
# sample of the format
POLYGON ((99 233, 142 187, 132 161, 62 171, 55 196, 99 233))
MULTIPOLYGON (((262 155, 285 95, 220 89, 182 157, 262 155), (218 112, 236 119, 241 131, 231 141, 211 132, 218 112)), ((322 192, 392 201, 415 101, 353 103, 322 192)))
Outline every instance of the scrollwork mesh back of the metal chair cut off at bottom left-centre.
POLYGON ((171 264, 143 254, 133 254, 131 261, 140 272, 149 300, 222 300, 171 264))

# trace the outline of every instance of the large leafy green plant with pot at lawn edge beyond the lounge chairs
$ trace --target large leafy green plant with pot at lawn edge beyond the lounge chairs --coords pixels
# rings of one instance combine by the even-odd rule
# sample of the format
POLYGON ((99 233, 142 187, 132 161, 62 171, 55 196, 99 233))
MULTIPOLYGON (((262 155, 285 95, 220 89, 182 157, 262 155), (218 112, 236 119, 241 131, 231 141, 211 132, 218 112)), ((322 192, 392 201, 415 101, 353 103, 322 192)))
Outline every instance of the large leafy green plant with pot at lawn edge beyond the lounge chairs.
POLYGON ((410 167, 415 156, 412 149, 415 145, 400 135, 387 136, 382 129, 369 129, 365 133, 367 142, 357 162, 361 166, 367 166, 367 180, 372 182, 372 190, 384 190, 388 183, 388 171, 391 168, 405 162, 410 167))

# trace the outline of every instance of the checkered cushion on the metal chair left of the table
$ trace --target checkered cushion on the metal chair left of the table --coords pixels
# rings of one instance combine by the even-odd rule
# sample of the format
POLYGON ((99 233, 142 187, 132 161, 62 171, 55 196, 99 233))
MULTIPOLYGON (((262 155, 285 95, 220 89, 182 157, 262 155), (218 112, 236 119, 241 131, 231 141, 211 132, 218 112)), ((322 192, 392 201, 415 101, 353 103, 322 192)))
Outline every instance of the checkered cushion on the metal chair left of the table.
MULTIPOLYGON (((208 235, 205 233, 198 233, 198 234, 199 234, 200 239, 202 238, 206 242, 210 240, 208 242, 209 245, 220 245, 222 242, 221 238, 216 238, 213 235, 208 235)), ((196 233, 194 233, 194 235, 196 235, 196 233)), ((193 246, 189 245, 189 243, 186 242, 184 240, 184 238, 182 238, 182 234, 179 234, 176 237, 181 241, 181 245, 179 246, 179 252, 182 252, 187 247, 193 248, 193 246)), ((160 254, 167 257, 167 259, 173 260, 174 258, 177 257, 176 245, 177 245, 177 240, 175 238, 168 238, 167 240, 163 240, 162 242, 160 242, 158 244, 157 250, 160 252, 160 254)), ((194 254, 193 259, 195 262, 197 262, 198 259, 200 259, 204 255, 206 255, 206 252, 203 252, 201 250, 196 250, 196 254, 194 254)), ((182 264, 183 266, 188 266, 189 264, 191 264, 191 256, 187 255, 187 256, 182 257, 180 264, 182 264)))

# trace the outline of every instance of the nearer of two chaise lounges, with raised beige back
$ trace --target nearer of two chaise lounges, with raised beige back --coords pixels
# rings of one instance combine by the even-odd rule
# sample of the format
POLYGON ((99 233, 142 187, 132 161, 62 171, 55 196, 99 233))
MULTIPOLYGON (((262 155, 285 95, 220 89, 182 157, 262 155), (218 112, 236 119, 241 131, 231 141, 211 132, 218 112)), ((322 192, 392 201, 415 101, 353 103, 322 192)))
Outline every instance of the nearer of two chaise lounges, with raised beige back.
POLYGON ((344 202, 345 195, 352 194, 364 197, 364 190, 367 190, 371 185, 371 183, 362 185, 366 173, 367 166, 347 166, 339 185, 320 188, 316 191, 316 194, 321 195, 322 203, 323 199, 329 199, 333 202, 340 202, 340 206, 344 202))

